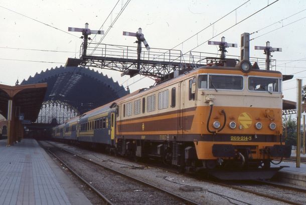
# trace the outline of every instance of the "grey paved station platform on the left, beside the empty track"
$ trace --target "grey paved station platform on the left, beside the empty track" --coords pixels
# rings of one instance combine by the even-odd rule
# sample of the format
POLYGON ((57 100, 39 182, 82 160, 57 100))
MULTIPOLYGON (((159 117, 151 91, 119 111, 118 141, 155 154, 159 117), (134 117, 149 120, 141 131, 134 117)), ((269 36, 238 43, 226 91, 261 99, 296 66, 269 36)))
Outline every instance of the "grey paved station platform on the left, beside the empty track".
POLYGON ((34 139, 0 140, 0 204, 91 204, 34 139))

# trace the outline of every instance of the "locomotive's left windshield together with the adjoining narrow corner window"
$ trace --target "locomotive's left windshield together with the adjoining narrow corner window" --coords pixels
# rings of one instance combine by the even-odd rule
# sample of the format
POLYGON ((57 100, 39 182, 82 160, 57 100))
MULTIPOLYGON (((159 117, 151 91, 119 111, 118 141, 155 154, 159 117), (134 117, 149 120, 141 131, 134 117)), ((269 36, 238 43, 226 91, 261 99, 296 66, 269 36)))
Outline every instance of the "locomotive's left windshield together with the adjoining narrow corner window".
POLYGON ((200 75, 199 89, 242 90, 242 76, 233 75, 200 75))

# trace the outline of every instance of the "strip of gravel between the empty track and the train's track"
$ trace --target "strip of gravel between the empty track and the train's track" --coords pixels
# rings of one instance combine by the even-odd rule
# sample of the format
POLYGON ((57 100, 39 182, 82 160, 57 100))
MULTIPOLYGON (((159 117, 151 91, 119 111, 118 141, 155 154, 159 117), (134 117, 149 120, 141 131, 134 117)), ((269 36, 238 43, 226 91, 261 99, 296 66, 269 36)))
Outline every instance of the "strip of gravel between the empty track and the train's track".
MULTIPOLYGON (((200 181, 185 175, 176 174, 154 167, 142 167, 143 165, 131 162, 124 158, 118 158, 106 154, 81 149, 71 145, 56 143, 65 149, 71 150, 78 155, 91 159, 95 162, 103 164, 109 168, 121 171, 125 174, 137 177, 143 181, 155 184, 168 191, 182 195, 201 204, 286 204, 280 201, 272 200, 244 191, 220 186, 217 184, 200 181), (184 191, 180 190, 182 186, 199 186, 200 191, 184 191)), ((274 193, 272 190, 265 190, 266 193, 274 193), (267 192, 268 191, 268 192, 267 192)), ((134 201, 134 204, 138 201, 134 201)), ((146 204, 165 204, 162 201, 151 202, 146 204)), ((138 203, 140 204, 140 203, 138 203)))

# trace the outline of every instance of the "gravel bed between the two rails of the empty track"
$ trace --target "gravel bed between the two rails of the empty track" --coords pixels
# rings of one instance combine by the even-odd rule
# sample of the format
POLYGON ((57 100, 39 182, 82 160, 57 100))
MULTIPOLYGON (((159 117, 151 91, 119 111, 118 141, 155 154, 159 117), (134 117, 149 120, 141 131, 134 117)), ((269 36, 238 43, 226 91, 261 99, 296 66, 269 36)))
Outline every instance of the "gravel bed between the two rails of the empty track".
POLYGON ((58 148, 50 150, 114 204, 184 204, 167 193, 139 184, 58 148))

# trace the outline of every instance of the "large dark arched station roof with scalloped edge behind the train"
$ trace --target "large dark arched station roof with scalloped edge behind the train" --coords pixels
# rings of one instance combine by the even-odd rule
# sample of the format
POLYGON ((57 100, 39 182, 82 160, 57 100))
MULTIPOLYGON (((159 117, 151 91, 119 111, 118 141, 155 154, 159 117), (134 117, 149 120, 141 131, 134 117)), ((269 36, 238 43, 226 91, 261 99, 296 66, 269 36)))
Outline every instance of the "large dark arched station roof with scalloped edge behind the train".
POLYGON ((23 80, 21 85, 48 83, 46 101, 61 101, 82 114, 129 93, 118 82, 84 67, 56 67, 23 80))

